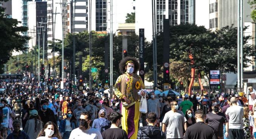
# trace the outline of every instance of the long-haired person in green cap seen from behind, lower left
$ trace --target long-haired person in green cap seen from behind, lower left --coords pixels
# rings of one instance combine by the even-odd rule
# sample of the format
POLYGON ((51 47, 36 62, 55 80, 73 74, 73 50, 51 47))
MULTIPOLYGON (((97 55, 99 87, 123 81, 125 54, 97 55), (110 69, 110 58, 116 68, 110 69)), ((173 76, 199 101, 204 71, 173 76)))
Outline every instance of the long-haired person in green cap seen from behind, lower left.
POLYGON ((36 139, 42 129, 43 122, 41 121, 37 110, 31 110, 30 117, 26 123, 24 131, 28 134, 29 139, 36 139))

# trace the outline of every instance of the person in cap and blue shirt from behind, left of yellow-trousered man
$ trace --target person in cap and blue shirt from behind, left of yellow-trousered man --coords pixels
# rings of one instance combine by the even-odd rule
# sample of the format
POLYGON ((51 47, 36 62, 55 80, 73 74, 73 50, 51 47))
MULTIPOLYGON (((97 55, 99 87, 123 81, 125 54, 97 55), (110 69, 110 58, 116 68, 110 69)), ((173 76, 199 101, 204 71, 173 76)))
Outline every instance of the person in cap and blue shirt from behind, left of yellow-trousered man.
POLYGON ((99 110, 99 118, 93 120, 92 128, 96 128, 101 133, 111 127, 111 122, 105 118, 107 112, 105 110, 99 110))

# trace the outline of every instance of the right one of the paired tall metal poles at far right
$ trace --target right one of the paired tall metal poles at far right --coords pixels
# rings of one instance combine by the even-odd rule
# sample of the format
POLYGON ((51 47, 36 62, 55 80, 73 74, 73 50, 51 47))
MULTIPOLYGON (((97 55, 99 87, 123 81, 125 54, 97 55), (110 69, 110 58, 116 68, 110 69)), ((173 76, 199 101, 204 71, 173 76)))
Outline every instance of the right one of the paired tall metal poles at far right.
POLYGON ((244 0, 240 1, 240 57, 241 57, 241 70, 240 70, 240 86, 241 88, 243 87, 243 72, 244 72, 244 58, 243 58, 243 46, 244 46, 244 35, 243 35, 243 30, 244 30, 244 0))

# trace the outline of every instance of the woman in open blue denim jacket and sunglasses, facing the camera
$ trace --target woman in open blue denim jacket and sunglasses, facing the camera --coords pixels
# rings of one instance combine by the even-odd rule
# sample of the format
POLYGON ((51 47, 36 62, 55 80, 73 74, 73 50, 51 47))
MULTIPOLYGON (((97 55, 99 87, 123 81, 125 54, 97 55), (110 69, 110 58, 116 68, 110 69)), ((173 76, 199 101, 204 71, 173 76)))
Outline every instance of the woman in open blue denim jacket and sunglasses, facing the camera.
POLYGON ((59 124, 59 132, 61 133, 62 139, 68 139, 71 131, 78 127, 78 120, 74 117, 72 111, 68 109, 67 118, 61 120, 59 124), (69 124, 70 126, 66 127, 66 124, 69 124))

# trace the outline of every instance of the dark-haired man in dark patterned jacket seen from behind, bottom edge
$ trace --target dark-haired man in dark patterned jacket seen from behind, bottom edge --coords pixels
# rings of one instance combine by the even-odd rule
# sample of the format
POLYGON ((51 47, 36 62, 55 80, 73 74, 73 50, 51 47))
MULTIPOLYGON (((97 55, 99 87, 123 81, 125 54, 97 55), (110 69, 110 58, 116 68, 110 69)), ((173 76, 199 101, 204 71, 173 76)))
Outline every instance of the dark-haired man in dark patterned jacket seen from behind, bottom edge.
POLYGON ((157 124, 157 114, 150 112, 147 116, 149 125, 141 127, 138 131, 137 139, 165 139, 165 133, 155 125, 157 124))

